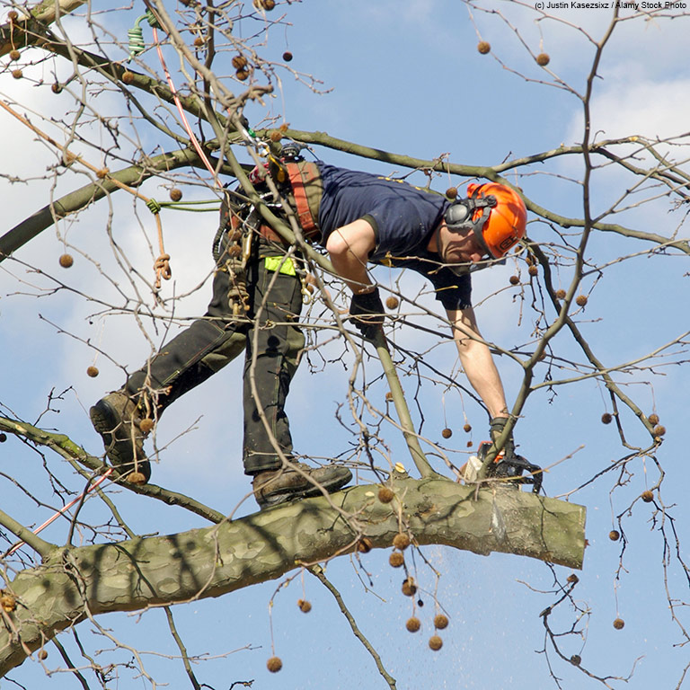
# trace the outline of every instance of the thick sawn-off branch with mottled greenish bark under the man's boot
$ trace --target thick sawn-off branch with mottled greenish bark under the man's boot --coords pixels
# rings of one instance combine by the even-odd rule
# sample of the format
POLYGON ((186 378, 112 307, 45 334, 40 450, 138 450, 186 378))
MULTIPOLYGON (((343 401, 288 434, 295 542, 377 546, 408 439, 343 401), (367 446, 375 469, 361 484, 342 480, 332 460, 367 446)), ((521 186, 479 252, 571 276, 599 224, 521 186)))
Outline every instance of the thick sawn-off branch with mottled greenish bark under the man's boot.
POLYGON ((388 548, 399 531, 399 509, 415 544, 581 568, 581 506, 495 485, 475 491, 447 479, 405 475, 392 487, 388 504, 377 500, 376 485, 365 485, 332 495, 335 508, 319 497, 177 535, 57 549, 6 589, 17 607, 0 610, 0 677, 91 615, 220 597, 279 578, 300 563, 352 551, 362 535, 373 548, 388 548))

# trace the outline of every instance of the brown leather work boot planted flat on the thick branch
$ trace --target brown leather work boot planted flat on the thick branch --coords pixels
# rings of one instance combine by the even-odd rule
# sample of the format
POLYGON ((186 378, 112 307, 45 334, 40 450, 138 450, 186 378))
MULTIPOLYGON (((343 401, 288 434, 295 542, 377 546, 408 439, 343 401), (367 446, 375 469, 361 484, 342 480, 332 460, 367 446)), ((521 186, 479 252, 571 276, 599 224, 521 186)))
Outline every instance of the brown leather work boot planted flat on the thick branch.
POLYGON ((309 496, 320 496, 321 490, 314 482, 329 493, 338 491, 352 479, 347 467, 332 464, 328 467, 310 467, 304 463, 290 463, 279 470, 266 470, 254 475, 252 489, 254 498, 261 509, 277 506, 288 500, 305 499, 309 496), (299 467, 312 479, 310 482, 295 467, 299 467))

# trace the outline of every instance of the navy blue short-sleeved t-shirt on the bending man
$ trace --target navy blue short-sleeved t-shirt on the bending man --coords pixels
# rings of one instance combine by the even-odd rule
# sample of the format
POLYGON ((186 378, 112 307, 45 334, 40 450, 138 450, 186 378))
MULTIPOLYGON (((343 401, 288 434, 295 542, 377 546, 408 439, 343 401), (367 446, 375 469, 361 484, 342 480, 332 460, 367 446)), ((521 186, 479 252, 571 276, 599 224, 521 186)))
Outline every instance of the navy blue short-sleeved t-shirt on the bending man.
POLYGON ((323 243, 336 228, 367 217, 373 221, 376 232, 376 248, 369 261, 417 271, 429 279, 436 298, 447 309, 472 305, 469 274, 456 276, 440 265, 438 253, 427 249, 448 205, 444 197, 407 182, 337 168, 321 161, 316 164, 323 180, 319 208, 323 243))

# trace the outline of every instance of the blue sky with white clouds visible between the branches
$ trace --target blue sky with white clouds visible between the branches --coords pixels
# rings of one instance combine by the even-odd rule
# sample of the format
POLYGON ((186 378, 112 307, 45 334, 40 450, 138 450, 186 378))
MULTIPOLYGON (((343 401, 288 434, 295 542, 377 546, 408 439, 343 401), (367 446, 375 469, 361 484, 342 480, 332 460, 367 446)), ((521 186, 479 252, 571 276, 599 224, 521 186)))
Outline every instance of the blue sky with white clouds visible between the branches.
MULTIPOLYGON (((553 74, 582 92, 594 53, 583 31, 589 31, 598 40, 606 29, 608 12, 563 10, 555 14, 555 19, 535 22, 535 12, 526 4, 484 3, 481 6, 504 13, 534 53, 541 50, 549 53, 549 69, 553 74), (540 41, 543 41, 541 45, 540 41)), ((548 84, 526 81, 524 77, 547 82, 552 77, 535 65, 514 31, 495 13, 474 9, 475 30, 466 6, 450 1, 366 3, 354 0, 342 4, 312 0, 281 4, 279 8, 286 12, 292 25, 271 33, 267 55, 279 56, 283 50, 290 49, 295 56, 291 66, 313 74, 323 81, 324 89, 330 90, 325 94, 311 93, 303 84, 283 75, 283 93, 270 100, 268 107, 272 115, 287 120, 294 128, 326 131, 360 144, 423 158, 448 153, 451 161, 463 164, 499 164, 507 157, 546 151, 581 140, 582 106, 577 95, 548 84), (476 51, 477 31, 483 40, 491 42, 488 56, 476 51)), ((137 14, 137 11, 129 13, 131 17, 137 14)), ((124 35, 131 17, 119 19, 117 14, 112 14, 106 15, 106 21, 111 31, 121 27, 120 33, 124 35)), ((75 31, 86 40, 87 32, 79 29, 78 24, 75 22, 75 31)), ((238 31, 250 31, 245 27, 246 24, 238 31)), ((624 22, 615 31, 595 81, 592 111, 597 139, 631 134, 663 138, 686 131, 690 89, 687 88, 685 35, 685 18, 668 21, 662 17, 638 17, 634 22, 624 22)), ((26 72, 34 79, 42 76, 48 81, 50 68, 51 63, 46 63, 27 68, 26 72)), ((183 82, 179 73, 173 78, 178 84, 183 82)), ((31 86, 27 81, 17 82, 6 72, 0 75, 4 100, 14 97, 22 103, 31 102, 37 111, 55 109, 58 115, 64 115, 71 107, 66 97, 55 97, 47 93, 48 88, 31 86)), ((103 93, 93 105, 99 111, 110 111, 119 108, 117 103, 111 94, 103 93)), ((250 109, 250 118, 258 121, 259 110, 250 109)), ((43 175, 51 163, 45 148, 4 115, 3 122, 6 160, 13 162, 11 169, 7 164, 3 166, 4 173, 19 177, 43 175), (27 151, 31 155, 26 155, 27 151)), ((125 123, 123 128, 127 128, 125 123)), ((95 127, 93 137, 96 141, 101 137, 95 127)), ((158 144, 173 146, 170 141, 157 140, 144 128, 141 137, 146 148, 153 149, 158 144)), ((101 143, 106 145, 105 137, 101 143)), ((685 161, 686 146, 669 146, 668 150, 678 161, 685 161)), ((94 163, 98 155, 97 151, 89 150, 94 163)), ((337 152, 317 150, 317 155, 335 164, 394 172, 385 164, 337 152)), ((566 178, 580 175, 581 162, 562 159, 530 169, 520 185, 541 206, 563 215, 578 215, 581 191, 566 178)), ((77 175, 60 179, 57 193, 84 182, 85 178, 77 175)), ((455 184, 462 182, 458 178, 453 180, 455 184)), ((163 184, 161 180, 150 181, 145 193, 163 199, 167 194, 163 184)), ((628 184, 629 180, 614 170, 597 171, 593 185, 597 211, 608 208, 628 184)), ((9 184, 3 178, 0 185, 5 200, 5 229, 46 203, 51 193, 49 181, 9 184)), ((444 190, 448 183, 439 179, 434 186, 444 190)), ((206 190, 189 185, 184 189, 188 198, 208 198, 206 190)), ((60 238, 51 229, 17 252, 18 260, 39 268, 42 275, 27 272, 17 262, 5 261, 0 266, 0 318, 4 325, 0 349, 8 353, 5 357, 12 362, 3 372, 0 403, 22 419, 33 421, 45 409, 51 390, 59 393, 68 389, 64 400, 53 405, 59 412, 45 416, 41 424, 69 434, 93 453, 99 453, 100 447, 88 421, 89 405, 104 391, 119 387, 123 376, 121 367, 128 370, 138 367, 163 337, 163 332, 156 332, 146 318, 144 327, 139 328, 130 315, 102 314, 101 305, 84 298, 88 294, 120 304, 117 290, 105 276, 129 295, 134 292, 128 282, 128 271, 113 260, 105 232, 109 212, 112 233, 119 246, 138 270, 150 275, 152 259, 145 234, 151 240, 154 235, 147 212, 141 211, 137 220, 131 213, 130 199, 117 195, 112 197, 111 208, 106 208, 107 202, 99 207, 60 224, 60 238), (75 253, 75 266, 69 271, 57 266, 57 256, 65 251, 63 236, 74 247, 70 251, 75 253), (65 281, 75 291, 62 290, 40 298, 20 294, 35 292, 32 286, 54 288, 53 278, 65 281), (71 332, 82 341, 58 330, 71 332), (97 356, 84 342, 87 340, 107 351, 120 366, 97 356), (90 379, 84 372, 94 361, 101 375, 90 379)), ((212 270, 209 247, 216 218, 169 211, 164 211, 163 217, 166 248, 173 257, 174 271, 174 284, 166 284, 164 290, 167 296, 173 295, 173 291, 190 293, 176 307, 176 315, 201 314, 208 301, 208 280, 205 285, 202 283, 212 270)), ((665 199, 634 208, 620 218, 635 229, 661 234, 670 234, 682 220, 682 211, 669 212, 665 199)), ((553 230, 534 218, 528 232, 538 242, 554 240, 553 230)), ((685 226, 679 226, 678 236, 687 237, 685 226)), ((624 242, 611 234, 595 234, 588 256, 602 262, 602 257, 610 259, 620 252, 647 248, 643 243, 624 242)), ((517 268, 526 280, 524 262, 517 268)), ((509 276, 517 268, 509 264, 480 274, 474 281, 473 296, 475 304, 480 305, 478 318, 487 340, 507 349, 520 345, 529 350, 535 319, 530 309, 532 290, 528 283, 524 288, 509 288, 509 276)), ((686 273, 686 261, 682 258, 641 255, 606 267, 597 276, 589 303, 578 318, 588 341, 607 366, 638 358, 684 332, 686 273)), ((399 277, 384 269, 376 270, 375 275, 384 287, 390 287, 399 277)), ((563 287, 567 287, 571 271, 562 268, 560 276, 563 287)), ((594 283, 595 276, 592 276, 585 281, 585 288, 591 288, 594 283)), ((411 276, 404 276, 402 285, 404 291, 420 289, 411 276)), ((142 289, 140 282, 136 286, 142 289)), ((432 300, 424 304, 434 308, 432 300)), ((552 313, 547 314, 553 318, 552 313)), ((159 329, 162 323, 156 323, 159 329)), ((440 328, 430 319, 421 323, 440 328)), ((452 344, 439 343, 438 338, 411 329, 396 332, 394 338, 403 347, 428 350, 425 362, 443 371, 456 371, 452 344)), ((582 360, 565 333, 554 341, 554 349, 559 357, 582 360)), ((332 357, 340 356, 341 351, 339 343, 324 350, 332 357)), ((676 356, 677 360, 683 358, 682 354, 676 356)), ((498 358, 498 365, 512 402, 519 385, 519 368, 506 356, 498 358)), ((545 367, 538 369, 537 378, 544 376, 545 367)), ((378 375, 375 360, 367 361, 366 368, 367 377, 378 375)), ((224 512, 233 509, 249 491, 239 462, 240 376, 240 364, 234 363, 186 395, 166 411, 157 434, 158 445, 164 449, 161 462, 154 467, 155 482, 174 491, 190 493, 224 512), (190 428, 189 433, 178 438, 190 428)), ((341 364, 320 367, 318 360, 314 361, 313 371, 309 367, 299 371, 289 412, 296 447, 301 452, 334 456, 347 449, 349 433, 334 419, 334 414, 344 400, 348 376, 349 370, 341 364)), ((566 376, 566 371, 554 371, 554 377, 566 376)), ((679 627, 670 620, 665 598, 665 554, 659 528, 669 529, 669 520, 673 518, 681 538, 680 553, 686 553, 682 541, 688 536, 683 472, 686 446, 680 437, 681 429, 687 424, 690 381, 686 367, 677 366, 637 370, 616 378, 625 384, 625 392, 643 411, 658 411, 668 429, 668 438, 659 451, 659 463, 667 473, 660 496, 668 506, 668 514, 653 514, 654 504, 639 500, 632 504, 643 489, 657 482, 658 470, 649 459, 631 464, 630 475, 607 473, 571 495, 571 500, 588 508, 589 546, 574 597, 590 615, 579 621, 582 638, 564 641, 563 650, 568 655, 579 654, 583 666, 599 677, 626 677, 635 659, 642 657, 630 682, 611 681, 614 687, 676 687, 686 666, 686 652, 683 647, 674 647, 683 637, 679 627), (617 480, 622 485, 615 487, 617 480), (629 541, 623 568, 619 570, 621 544, 611 542, 608 532, 615 525, 614 517, 620 514, 624 515, 624 531, 629 541), (617 615, 626 622, 620 632, 612 627, 617 615)), ((408 386, 413 387, 413 379, 404 378, 403 385, 406 390, 408 386)), ((370 389, 372 401, 382 408, 385 390, 382 383, 375 383, 370 389)), ((535 393, 516 429, 522 453, 537 464, 554 464, 544 482, 551 496, 570 494, 626 453, 615 425, 604 426, 599 421, 604 411, 611 411, 606 390, 601 385, 589 380, 560 386, 555 393, 549 394, 545 389, 535 393), (559 461, 562 462, 557 464, 559 461)), ((464 415, 473 425, 473 442, 476 444, 485 436, 485 415, 467 396, 445 391, 441 385, 424 385, 419 398, 425 418, 423 434, 440 442, 444 426, 454 429, 454 437, 445 444, 452 458, 463 457, 466 452, 466 437, 462 432, 464 415)), ((3 411, 9 414, 6 408, 3 411)), ((622 419, 626 440, 632 445, 645 443, 645 433, 632 414, 623 411, 622 419)), ((394 461, 408 464, 400 438, 393 429, 385 434, 394 461)), ((57 456, 46 457, 51 470, 71 489, 79 486, 57 456)), ((21 482, 31 481, 42 499, 54 505, 57 500, 50 495, 49 482, 40 470, 41 462, 40 456, 13 439, 0 447, 0 471, 21 482)), ((9 499, 4 499, 3 509, 27 524, 38 524, 49 516, 47 507, 37 507, 9 483, 4 491, 9 499)), ((114 497, 125 518, 142 533, 175 532, 202 524, 181 510, 149 505, 137 496, 129 496, 128 492, 114 493, 114 497)), ((93 511, 90 514, 94 519, 102 517, 96 501, 91 501, 87 509, 93 511)), ((252 510, 250 500, 243 504, 240 513, 252 510)), ((57 542, 65 535, 66 522, 60 521, 46 533, 47 538, 57 542)), ((672 539, 670 544, 666 573, 669 596, 685 601, 687 580, 677 566, 672 539)), ((558 598, 553 594, 553 572, 562 583, 569 571, 561 568, 552 571, 540 562, 517 556, 494 554, 483 558, 440 547, 425 549, 424 553, 441 573, 438 601, 451 618, 451 625, 443 635, 444 648, 436 654, 426 646, 432 597, 424 593, 426 606, 419 614, 422 632, 416 635, 406 632, 404 622, 411 615, 411 605, 399 593, 398 580, 402 576, 387 565, 387 553, 367 554, 362 557, 361 566, 349 558, 341 558, 328 568, 329 577, 341 589, 362 631, 398 680, 398 687, 430 684, 515 690, 556 687, 547 659, 538 653, 544 647, 539 614, 558 598), (376 594, 363 587, 362 581, 368 583, 367 573, 376 594)), ((433 591, 436 583, 428 570, 420 567, 419 579, 423 589, 433 591)), ((304 580, 305 594, 298 576, 288 588, 279 591, 272 607, 276 651, 284 661, 284 668, 277 676, 266 672, 265 659, 270 656, 269 601, 279 583, 176 607, 174 614, 191 653, 224 654, 246 645, 260 648, 237 651, 225 660, 200 664, 195 668, 199 680, 215 688, 229 687, 234 680, 250 678, 255 679, 254 688, 385 687, 373 661, 352 637, 330 595, 312 576, 305 574, 304 580), (314 604, 309 615, 296 609, 296 599, 305 595, 314 604)), ((679 615, 685 625, 682 614, 679 615)), ((572 608, 563 605, 553 618, 562 629, 569 629, 574 616, 572 608)), ((112 615, 102 618, 100 623, 133 646, 155 650, 156 654, 175 653, 161 611, 148 611, 140 618, 112 615)), ((92 650, 111 647, 110 641, 93 637, 85 627, 80 632, 92 650)), ((74 650, 67 638, 65 644, 74 650)), ((127 651, 115 654, 120 660, 128 659, 127 651)), ((103 658, 107 656, 104 654, 103 658)), ((549 660, 554 675, 562 679, 562 687, 601 685, 553 655, 549 660)), ((145 657, 145 664, 159 683, 167 682, 172 687, 187 683, 179 661, 150 655, 145 657)), ((59 667, 56 651, 51 651, 47 667, 59 667)), ((69 674, 46 677, 34 661, 27 661, 11 677, 30 687, 75 686, 69 674)), ((130 677, 122 677, 119 685, 114 686, 138 685, 147 686, 145 680, 130 677)))

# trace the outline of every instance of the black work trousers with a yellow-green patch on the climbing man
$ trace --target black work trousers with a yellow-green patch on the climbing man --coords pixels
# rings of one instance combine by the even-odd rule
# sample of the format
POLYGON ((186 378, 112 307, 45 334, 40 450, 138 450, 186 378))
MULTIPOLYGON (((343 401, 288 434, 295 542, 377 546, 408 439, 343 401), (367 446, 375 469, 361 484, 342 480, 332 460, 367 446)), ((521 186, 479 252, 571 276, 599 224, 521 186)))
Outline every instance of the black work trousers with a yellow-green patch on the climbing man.
MULTIPOLYGON (((301 281, 294 274, 294 264, 290 259, 273 258, 284 256, 279 245, 270 245, 262 239, 255 244, 247 263, 249 311, 239 317, 233 315, 228 302, 231 288, 228 272, 225 268, 217 270, 207 313, 164 345, 145 367, 128 378, 125 386, 131 395, 148 392, 149 399, 154 392, 160 413, 244 352, 245 474, 281 466, 274 443, 286 455, 292 452, 285 401, 305 345, 297 324, 302 310, 302 291, 301 281), (260 406, 266 423, 261 420, 260 406)), ((232 390, 233 387, 228 386, 228 392, 232 390)))

